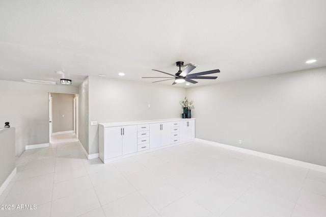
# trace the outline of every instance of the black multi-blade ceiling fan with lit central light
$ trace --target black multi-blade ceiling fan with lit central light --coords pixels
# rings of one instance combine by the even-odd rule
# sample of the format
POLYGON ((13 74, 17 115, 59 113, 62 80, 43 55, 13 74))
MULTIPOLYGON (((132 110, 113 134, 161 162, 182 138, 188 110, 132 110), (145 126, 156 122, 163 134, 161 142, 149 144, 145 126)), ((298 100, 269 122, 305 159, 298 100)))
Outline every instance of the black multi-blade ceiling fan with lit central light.
MULTIPOLYGON (((190 82, 190 83, 196 84, 198 82, 196 82, 196 80, 193 80, 193 79, 216 79, 216 78, 218 78, 217 76, 200 76, 200 75, 213 74, 213 73, 220 72, 219 69, 214 69, 214 70, 210 70, 210 71, 189 74, 189 72, 193 71, 196 68, 196 66, 189 64, 187 67, 185 67, 183 69, 183 71, 181 71, 181 66, 183 66, 183 62, 178 61, 178 62, 176 62, 176 64, 179 67, 179 71, 177 73, 175 73, 174 75, 167 73, 167 72, 162 72, 162 71, 159 71, 156 69, 152 69, 157 72, 171 75, 172 78, 171 77, 142 77, 142 78, 169 78, 169 79, 165 79, 165 80, 174 79, 174 82, 172 85, 175 85, 177 83, 183 83, 183 82, 190 82)), ((164 82, 165 80, 157 80, 156 82, 164 82)), ((152 82, 152 83, 156 83, 156 82, 152 82)))

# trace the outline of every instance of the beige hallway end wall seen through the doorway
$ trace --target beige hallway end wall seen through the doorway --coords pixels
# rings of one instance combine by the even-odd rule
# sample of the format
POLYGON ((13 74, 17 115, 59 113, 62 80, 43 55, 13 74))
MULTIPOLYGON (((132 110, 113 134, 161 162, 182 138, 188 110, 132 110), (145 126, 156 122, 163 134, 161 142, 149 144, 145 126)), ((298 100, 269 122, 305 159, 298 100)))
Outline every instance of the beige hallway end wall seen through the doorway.
POLYGON ((51 93, 52 132, 73 130, 74 94, 51 93))

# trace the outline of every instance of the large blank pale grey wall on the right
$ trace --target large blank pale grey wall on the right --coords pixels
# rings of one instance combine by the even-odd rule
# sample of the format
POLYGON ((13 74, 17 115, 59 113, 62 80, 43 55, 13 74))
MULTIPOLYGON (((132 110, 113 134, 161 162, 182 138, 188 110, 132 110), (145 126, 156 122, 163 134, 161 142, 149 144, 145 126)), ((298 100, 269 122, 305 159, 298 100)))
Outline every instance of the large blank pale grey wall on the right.
POLYGON ((326 67, 186 94, 195 102, 197 138, 326 166, 326 67))

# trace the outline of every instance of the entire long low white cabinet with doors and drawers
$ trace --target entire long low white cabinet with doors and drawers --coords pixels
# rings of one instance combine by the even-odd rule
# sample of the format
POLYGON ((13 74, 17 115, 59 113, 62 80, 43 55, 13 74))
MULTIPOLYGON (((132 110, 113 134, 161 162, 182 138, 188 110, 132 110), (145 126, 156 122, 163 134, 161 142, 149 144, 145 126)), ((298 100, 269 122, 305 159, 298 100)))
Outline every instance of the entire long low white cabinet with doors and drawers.
POLYGON ((108 162, 195 140, 195 119, 101 123, 99 157, 108 162))

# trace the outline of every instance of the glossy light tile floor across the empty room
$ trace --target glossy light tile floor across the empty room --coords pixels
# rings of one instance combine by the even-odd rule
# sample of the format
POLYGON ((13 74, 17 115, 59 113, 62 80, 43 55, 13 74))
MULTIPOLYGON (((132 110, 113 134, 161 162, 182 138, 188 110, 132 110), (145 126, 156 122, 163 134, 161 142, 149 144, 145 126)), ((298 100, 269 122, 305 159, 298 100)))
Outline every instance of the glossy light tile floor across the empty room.
POLYGON ((326 174, 199 142, 102 164, 78 142, 26 150, 0 216, 326 216, 326 174))

